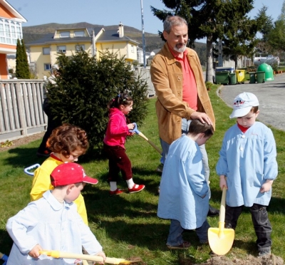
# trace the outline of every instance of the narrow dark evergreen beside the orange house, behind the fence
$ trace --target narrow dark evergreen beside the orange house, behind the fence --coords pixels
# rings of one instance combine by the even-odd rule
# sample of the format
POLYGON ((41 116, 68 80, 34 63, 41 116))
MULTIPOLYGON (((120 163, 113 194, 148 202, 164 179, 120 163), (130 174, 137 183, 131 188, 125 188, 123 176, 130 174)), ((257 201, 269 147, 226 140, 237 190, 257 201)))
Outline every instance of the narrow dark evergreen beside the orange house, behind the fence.
POLYGON ((30 76, 24 40, 20 41, 18 38, 16 46, 16 78, 29 79, 30 76))

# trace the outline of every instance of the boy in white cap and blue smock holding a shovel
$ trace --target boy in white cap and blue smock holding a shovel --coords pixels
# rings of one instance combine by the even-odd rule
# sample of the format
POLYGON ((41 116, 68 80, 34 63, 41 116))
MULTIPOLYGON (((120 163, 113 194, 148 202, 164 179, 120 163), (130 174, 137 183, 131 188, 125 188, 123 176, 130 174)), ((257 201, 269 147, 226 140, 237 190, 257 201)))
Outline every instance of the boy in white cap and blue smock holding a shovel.
POLYGON ((224 135, 216 170, 219 187, 227 188, 225 226, 235 229, 243 207, 249 207, 259 256, 265 256, 271 254, 272 232, 266 207, 278 167, 274 135, 256 121, 258 106, 259 100, 252 93, 244 92, 234 98, 229 118, 237 118, 237 124, 224 135))

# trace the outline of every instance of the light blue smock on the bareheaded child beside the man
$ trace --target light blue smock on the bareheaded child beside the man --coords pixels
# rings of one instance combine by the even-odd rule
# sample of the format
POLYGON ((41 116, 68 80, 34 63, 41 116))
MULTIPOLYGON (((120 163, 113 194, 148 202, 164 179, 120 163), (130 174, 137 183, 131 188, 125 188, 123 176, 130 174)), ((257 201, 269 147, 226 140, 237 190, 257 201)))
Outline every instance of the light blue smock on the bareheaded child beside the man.
POLYGON ((160 182, 157 216, 184 229, 202 227, 209 210, 208 185, 197 143, 182 135, 170 145, 160 182))

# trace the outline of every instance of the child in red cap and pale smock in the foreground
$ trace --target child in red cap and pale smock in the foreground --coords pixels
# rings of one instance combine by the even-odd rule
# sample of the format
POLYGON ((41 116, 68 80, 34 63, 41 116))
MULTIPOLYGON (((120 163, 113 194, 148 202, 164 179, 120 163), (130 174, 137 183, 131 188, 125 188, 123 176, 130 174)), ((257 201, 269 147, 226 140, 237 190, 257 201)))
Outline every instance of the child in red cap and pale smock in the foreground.
POLYGON ((83 167, 76 163, 63 163, 51 172, 54 189, 30 202, 6 224, 14 240, 7 265, 75 264, 75 259, 53 259, 39 251, 53 249, 82 254, 82 246, 88 254, 102 256, 105 261, 102 246, 73 203, 84 183, 97 184, 98 180, 87 177, 83 167))

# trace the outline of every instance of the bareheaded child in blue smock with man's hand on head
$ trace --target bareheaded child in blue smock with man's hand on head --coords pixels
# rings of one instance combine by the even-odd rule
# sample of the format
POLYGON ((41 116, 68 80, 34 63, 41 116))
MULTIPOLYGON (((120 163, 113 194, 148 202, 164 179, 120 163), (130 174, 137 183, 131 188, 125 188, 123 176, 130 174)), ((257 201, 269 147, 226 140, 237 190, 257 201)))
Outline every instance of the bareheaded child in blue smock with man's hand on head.
POLYGON ((167 237, 169 249, 187 249, 185 229, 196 229, 199 241, 207 243, 209 224, 209 187, 204 177, 202 152, 199 145, 214 133, 212 125, 192 120, 189 133, 183 134, 170 145, 160 182, 157 216, 171 219, 167 237))

